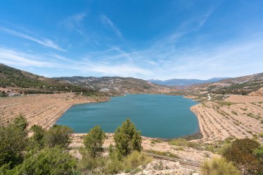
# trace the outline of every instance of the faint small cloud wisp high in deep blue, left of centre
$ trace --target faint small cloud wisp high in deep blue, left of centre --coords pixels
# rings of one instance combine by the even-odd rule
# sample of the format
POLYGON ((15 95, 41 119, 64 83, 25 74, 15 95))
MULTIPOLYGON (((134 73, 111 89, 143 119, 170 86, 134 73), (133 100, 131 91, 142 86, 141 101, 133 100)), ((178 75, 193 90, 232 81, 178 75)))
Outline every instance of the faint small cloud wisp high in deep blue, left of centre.
POLYGON ((80 35, 84 35, 81 23, 86 16, 86 12, 80 12, 78 14, 72 15, 71 17, 67 17, 61 21, 60 24, 63 24, 69 30, 75 30, 76 32, 80 33, 80 35))

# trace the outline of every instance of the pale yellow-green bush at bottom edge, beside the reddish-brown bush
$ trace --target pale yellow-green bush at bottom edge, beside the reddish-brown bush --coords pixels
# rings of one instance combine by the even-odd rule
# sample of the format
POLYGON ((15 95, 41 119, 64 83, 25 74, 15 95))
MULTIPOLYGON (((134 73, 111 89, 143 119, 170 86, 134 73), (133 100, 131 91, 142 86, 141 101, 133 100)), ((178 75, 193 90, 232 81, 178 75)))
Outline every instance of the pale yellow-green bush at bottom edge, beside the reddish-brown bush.
POLYGON ((240 174, 233 163, 228 163, 224 158, 212 158, 212 160, 206 160, 203 163, 201 170, 205 175, 240 174))

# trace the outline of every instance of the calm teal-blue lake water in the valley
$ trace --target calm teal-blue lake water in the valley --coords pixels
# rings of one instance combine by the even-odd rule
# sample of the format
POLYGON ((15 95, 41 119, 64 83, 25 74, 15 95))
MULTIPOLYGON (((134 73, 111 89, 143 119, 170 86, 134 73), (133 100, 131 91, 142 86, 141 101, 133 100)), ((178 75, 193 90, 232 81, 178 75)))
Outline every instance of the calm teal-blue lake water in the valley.
POLYGON ((199 131, 197 117, 190 111, 194 104, 197 102, 174 95, 125 95, 109 102, 73 105, 56 124, 67 125, 75 133, 87 133, 96 125, 114 132, 130 118, 143 136, 176 138, 199 131))

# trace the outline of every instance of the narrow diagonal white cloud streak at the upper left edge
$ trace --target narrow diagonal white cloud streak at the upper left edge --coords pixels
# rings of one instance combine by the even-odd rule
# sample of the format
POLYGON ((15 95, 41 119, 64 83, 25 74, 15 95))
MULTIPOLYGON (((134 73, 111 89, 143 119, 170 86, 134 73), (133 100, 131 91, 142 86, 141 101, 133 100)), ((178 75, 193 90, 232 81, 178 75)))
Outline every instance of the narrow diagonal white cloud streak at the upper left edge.
POLYGON ((66 50, 64 50, 63 48, 61 48, 57 44, 55 44, 51 39, 46 39, 46 38, 38 39, 36 37, 32 37, 32 36, 26 35, 25 33, 20 33, 20 32, 17 32, 15 30, 11 30, 9 28, 0 27, 0 30, 4 33, 8 33, 8 34, 16 36, 16 37, 21 37, 24 39, 28 39, 32 42, 36 42, 37 44, 41 44, 42 46, 46 46, 49 48, 54 48, 56 50, 66 52, 66 50))

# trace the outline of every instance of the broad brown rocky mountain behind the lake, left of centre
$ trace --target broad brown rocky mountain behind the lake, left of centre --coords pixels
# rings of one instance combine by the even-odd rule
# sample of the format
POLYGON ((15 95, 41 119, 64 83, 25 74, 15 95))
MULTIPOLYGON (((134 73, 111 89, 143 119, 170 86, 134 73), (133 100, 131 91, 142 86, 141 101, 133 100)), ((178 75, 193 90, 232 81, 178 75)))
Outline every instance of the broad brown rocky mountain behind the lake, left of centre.
POLYGON ((134 77, 56 77, 74 85, 104 92, 117 93, 165 93, 174 89, 134 77))

